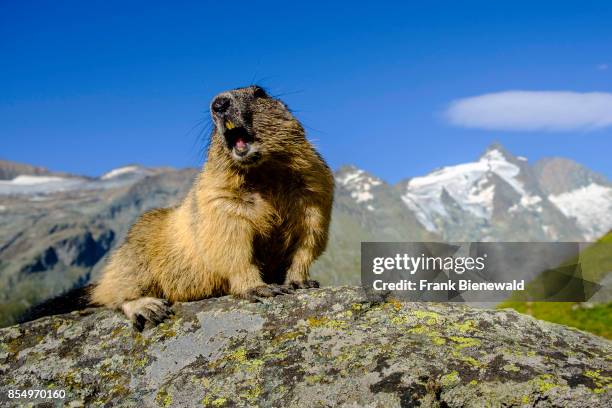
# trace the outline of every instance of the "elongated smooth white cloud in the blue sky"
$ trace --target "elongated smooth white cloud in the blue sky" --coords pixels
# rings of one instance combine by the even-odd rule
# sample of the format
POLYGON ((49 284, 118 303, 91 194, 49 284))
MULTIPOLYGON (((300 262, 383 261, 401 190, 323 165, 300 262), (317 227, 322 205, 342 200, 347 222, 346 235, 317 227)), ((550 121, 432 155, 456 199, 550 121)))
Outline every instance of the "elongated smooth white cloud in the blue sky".
POLYGON ((612 126, 612 93, 506 91, 453 101, 456 126, 511 131, 576 131, 612 126))

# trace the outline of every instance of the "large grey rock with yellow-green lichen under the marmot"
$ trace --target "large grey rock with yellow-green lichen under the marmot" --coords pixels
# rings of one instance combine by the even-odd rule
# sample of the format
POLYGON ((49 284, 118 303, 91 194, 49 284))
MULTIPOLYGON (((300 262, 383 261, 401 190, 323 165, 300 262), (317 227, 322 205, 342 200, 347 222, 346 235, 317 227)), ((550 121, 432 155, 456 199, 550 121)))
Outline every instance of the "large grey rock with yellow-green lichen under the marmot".
POLYGON ((48 405, 609 407, 612 343, 512 310, 372 300, 360 288, 174 305, 143 333, 88 309, 0 330, 9 390, 48 405))

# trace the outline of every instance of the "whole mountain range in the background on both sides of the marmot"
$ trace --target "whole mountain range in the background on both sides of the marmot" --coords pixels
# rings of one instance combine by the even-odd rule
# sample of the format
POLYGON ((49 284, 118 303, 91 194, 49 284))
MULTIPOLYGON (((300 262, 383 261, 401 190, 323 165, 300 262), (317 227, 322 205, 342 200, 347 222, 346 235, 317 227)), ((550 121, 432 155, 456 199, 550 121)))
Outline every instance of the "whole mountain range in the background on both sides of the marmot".
MULTIPOLYGON (((94 280, 136 218, 176 205, 197 173, 131 165, 87 178, 0 161, 0 325, 94 280)), ((397 185, 354 166, 335 179, 329 244, 312 268, 326 285, 359 282, 362 241, 581 241, 612 228, 605 177, 499 145, 397 185)))

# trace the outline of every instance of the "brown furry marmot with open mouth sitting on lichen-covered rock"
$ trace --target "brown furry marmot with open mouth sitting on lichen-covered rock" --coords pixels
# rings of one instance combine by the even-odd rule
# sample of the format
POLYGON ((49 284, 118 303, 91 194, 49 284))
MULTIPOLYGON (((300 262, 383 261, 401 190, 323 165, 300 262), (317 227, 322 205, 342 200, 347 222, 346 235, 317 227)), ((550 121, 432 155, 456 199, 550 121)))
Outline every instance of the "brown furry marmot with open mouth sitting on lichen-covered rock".
POLYGON ((316 287, 333 176, 286 105, 251 86, 213 99, 202 172, 176 208, 145 213, 111 256, 91 298, 142 329, 168 302, 275 296, 316 287))

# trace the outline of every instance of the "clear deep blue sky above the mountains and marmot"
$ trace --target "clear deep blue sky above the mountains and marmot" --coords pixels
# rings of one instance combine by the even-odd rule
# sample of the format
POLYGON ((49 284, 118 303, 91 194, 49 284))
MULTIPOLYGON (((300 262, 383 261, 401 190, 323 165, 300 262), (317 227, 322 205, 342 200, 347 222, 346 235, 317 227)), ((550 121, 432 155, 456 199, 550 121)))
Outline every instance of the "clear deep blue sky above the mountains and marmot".
POLYGON ((467 119, 448 111, 512 90, 553 91, 553 105, 554 91, 605 97, 610 21, 606 1, 2 2, 0 158, 87 175, 199 166, 210 98, 255 81, 283 95, 334 168, 396 182, 499 141, 612 178, 605 102, 573 123, 583 99, 552 113, 519 100, 519 116, 548 121, 519 129, 483 126, 474 104, 467 119), (568 117, 575 126, 549 123, 568 117))

